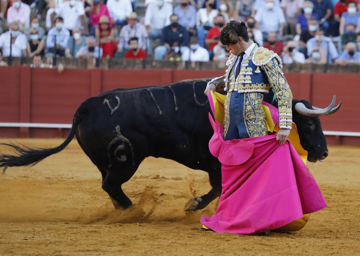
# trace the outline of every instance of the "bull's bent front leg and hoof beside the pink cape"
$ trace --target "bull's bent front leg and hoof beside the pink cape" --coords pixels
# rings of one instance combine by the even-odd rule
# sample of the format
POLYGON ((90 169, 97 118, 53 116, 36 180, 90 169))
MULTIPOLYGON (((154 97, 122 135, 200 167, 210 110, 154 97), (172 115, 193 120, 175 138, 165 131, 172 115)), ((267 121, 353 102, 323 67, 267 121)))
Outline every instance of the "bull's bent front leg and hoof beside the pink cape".
POLYGON ((219 197, 221 194, 221 174, 212 170, 214 172, 209 172, 209 180, 212 186, 212 189, 202 197, 193 197, 190 198, 184 207, 184 211, 197 211, 202 208, 205 208, 211 201, 219 197))

